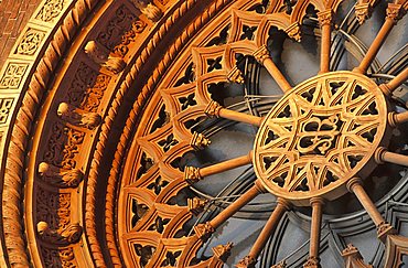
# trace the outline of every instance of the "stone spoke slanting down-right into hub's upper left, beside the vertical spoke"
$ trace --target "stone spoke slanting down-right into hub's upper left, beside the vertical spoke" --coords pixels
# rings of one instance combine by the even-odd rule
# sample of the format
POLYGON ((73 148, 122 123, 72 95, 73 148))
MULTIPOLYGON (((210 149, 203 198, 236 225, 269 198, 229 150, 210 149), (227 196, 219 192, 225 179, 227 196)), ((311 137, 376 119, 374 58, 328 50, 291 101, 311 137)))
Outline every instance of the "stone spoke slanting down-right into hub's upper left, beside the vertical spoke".
POLYGON ((282 89, 283 93, 292 88, 292 86, 289 84, 287 78, 280 72, 278 66, 273 63, 272 57, 270 56, 268 47, 266 45, 262 45, 256 52, 254 52, 254 57, 265 66, 265 68, 273 77, 273 79, 276 81, 276 83, 282 89))

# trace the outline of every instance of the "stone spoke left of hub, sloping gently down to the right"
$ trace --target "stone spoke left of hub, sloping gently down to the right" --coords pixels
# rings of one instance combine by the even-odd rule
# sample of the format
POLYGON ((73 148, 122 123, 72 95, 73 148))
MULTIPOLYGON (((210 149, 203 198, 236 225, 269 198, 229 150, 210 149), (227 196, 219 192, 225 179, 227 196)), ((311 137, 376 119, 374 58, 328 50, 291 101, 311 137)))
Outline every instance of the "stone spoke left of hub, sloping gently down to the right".
POLYGON ((207 105, 204 112, 210 117, 225 118, 233 121, 246 122, 258 127, 264 120, 264 118, 261 117, 251 116, 236 110, 224 108, 217 101, 214 100, 212 100, 207 105))

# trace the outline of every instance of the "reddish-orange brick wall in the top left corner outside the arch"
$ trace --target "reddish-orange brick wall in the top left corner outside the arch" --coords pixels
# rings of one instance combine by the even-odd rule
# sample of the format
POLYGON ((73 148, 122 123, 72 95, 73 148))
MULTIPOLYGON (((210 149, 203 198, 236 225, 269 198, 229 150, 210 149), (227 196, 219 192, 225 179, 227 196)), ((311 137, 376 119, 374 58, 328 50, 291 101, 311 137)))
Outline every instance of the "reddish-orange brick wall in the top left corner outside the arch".
POLYGON ((0 0, 0 68, 41 0, 0 0))

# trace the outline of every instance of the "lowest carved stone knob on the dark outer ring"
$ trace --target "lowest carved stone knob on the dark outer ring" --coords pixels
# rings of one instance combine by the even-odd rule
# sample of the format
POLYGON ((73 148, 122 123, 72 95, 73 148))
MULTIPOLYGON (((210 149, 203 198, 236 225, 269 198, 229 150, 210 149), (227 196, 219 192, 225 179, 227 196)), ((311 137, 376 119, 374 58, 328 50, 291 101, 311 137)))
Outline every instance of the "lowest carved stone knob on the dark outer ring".
POLYGON ((77 243, 83 234, 78 223, 68 224, 62 229, 51 229, 46 222, 39 222, 36 231, 42 240, 62 246, 77 243))

